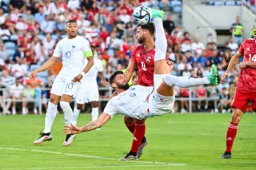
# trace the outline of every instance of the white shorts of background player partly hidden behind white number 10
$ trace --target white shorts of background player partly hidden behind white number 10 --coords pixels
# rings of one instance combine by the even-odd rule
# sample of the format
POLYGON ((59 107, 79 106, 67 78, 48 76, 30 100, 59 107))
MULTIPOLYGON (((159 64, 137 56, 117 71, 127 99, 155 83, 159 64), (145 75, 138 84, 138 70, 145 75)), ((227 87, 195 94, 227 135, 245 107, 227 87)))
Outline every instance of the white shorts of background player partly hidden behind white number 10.
POLYGON ((75 97, 75 102, 78 104, 85 104, 91 101, 98 101, 99 93, 98 93, 98 85, 94 86, 86 86, 81 85, 78 89, 78 93, 75 97))

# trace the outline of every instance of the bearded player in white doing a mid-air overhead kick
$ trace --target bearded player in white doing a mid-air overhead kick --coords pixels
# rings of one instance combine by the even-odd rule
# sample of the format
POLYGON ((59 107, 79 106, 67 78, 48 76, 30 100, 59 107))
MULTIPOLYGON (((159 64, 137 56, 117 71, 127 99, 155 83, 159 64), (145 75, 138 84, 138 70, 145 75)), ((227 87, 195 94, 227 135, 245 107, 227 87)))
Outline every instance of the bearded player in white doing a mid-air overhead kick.
MULTIPOLYGON (((122 72, 115 72, 110 77, 110 85, 116 90, 117 96, 112 97, 107 103, 102 115, 81 128, 74 125, 66 125, 63 131, 66 134, 77 134, 102 127, 115 114, 121 113, 138 121, 145 121, 147 117, 160 116, 170 113, 174 106, 174 85, 190 87, 195 85, 218 85, 218 74, 215 65, 208 77, 191 78, 175 77, 170 75, 170 67, 166 64, 166 36, 162 26, 162 10, 152 10, 155 33, 154 56, 154 91, 153 87, 142 85, 130 86, 126 83, 126 77, 122 72)), ((129 152, 120 160, 138 160, 136 152, 129 152)))

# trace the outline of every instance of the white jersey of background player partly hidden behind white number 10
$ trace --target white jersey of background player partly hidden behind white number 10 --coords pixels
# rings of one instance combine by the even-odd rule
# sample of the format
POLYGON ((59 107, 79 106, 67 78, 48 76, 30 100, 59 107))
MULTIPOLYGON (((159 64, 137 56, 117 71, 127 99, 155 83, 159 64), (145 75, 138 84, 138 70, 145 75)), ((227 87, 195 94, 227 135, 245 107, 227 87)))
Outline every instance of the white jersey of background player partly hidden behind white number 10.
MULTIPOLYGON (((88 61, 85 61, 85 65, 87 65, 88 61)), ((90 70, 86 73, 85 77, 82 78, 82 87, 88 87, 88 86, 97 86, 97 75, 98 72, 103 71, 103 64, 98 57, 94 56, 94 65, 90 68, 90 70)))

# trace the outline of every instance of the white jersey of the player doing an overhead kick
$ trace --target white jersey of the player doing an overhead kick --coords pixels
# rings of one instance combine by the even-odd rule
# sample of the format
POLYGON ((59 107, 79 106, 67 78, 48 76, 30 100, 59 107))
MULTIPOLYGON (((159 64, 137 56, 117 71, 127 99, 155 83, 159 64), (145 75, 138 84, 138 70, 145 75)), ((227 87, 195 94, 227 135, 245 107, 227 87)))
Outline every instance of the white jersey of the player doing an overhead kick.
POLYGON ((125 92, 113 97, 106 105, 104 113, 113 117, 121 113, 134 119, 142 120, 149 116, 149 103, 146 97, 152 93, 153 87, 133 85, 125 92))

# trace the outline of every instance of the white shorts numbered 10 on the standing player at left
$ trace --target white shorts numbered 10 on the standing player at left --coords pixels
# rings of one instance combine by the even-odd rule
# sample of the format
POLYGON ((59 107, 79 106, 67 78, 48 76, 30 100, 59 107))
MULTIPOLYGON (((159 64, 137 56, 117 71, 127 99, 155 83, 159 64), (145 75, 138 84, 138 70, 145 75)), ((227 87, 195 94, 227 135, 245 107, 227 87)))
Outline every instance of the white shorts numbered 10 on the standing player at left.
POLYGON ((74 96, 78 92, 78 88, 81 83, 72 82, 73 78, 74 77, 64 77, 58 74, 54 80, 54 84, 50 90, 50 93, 57 96, 62 96, 62 94, 74 96))

